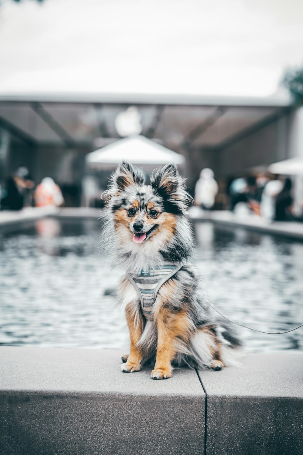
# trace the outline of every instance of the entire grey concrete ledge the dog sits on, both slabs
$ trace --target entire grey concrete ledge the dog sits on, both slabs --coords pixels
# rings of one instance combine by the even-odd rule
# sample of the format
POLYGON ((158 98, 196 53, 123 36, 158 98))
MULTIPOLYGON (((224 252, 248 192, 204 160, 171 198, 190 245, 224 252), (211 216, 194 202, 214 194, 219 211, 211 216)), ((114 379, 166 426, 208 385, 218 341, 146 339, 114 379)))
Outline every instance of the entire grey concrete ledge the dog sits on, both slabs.
POLYGON ((0 363, 1 454, 302 454, 302 353, 165 381, 122 374, 118 350, 0 347, 0 363))

